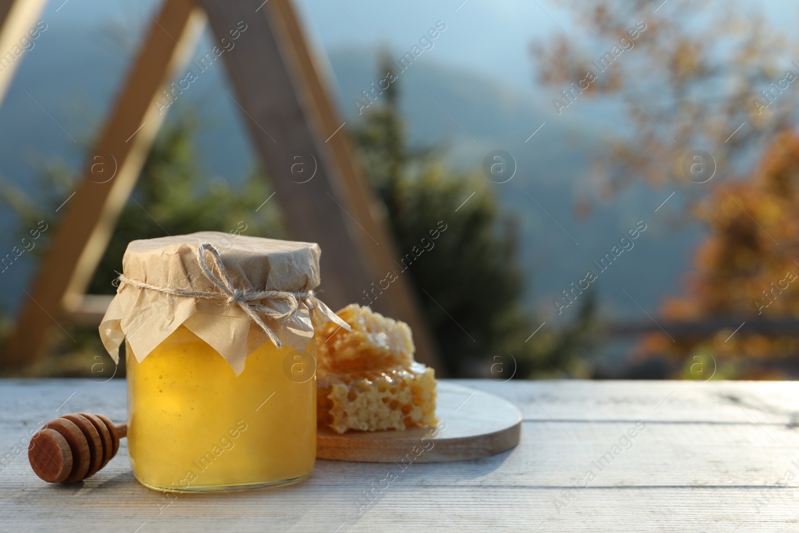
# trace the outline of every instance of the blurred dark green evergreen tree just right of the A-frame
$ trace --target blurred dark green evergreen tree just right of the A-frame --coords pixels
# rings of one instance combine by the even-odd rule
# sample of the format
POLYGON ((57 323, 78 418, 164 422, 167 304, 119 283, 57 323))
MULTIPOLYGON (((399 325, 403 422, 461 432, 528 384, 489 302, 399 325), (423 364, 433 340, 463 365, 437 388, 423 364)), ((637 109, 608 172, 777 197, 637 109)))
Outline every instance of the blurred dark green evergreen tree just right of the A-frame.
MULTIPOLYGON (((388 57, 379 68, 392 70, 388 57)), ((515 361, 517 377, 589 374, 582 356, 593 331, 593 299, 586 298, 568 331, 543 330, 526 343, 539 324, 523 306, 514 218, 500 214, 482 174, 452 169, 436 147, 407 145, 398 82, 381 98, 384 104, 370 105, 355 138, 388 210, 400 256, 419 247, 439 222, 446 225, 407 273, 451 371, 463 375, 475 372, 470 367, 493 364, 495 373, 506 372, 497 373, 504 379, 515 361)))

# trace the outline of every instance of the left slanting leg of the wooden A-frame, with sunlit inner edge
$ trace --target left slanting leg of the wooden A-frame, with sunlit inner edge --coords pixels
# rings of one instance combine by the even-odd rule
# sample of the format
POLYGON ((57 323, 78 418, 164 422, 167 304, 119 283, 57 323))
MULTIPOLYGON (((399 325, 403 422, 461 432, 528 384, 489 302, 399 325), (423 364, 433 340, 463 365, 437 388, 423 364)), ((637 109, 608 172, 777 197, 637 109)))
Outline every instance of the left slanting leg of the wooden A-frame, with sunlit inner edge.
POLYGON ((6 366, 34 362, 46 349, 48 330, 81 303, 165 117, 156 98, 185 65, 203 24, 204 15, 191 0, 166 0, 87 157, 78 190, 66 201, 50 249, 4 347, 6 366))

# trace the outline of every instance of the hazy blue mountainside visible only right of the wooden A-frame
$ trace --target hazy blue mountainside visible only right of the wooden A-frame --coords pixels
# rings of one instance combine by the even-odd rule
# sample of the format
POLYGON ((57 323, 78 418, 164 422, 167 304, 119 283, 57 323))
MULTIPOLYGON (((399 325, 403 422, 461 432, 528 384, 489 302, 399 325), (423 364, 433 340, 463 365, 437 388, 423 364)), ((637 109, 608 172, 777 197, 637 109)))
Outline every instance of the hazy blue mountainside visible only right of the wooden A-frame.
MULTIPOLYGON (((515 176, 491 188, 507 211, 519 217, 521 259, 535 307, 545 314, 555 312, 555 297, 585 278, 589 268, 598 274, 591 285, 612 315, 642 316, 638 304, 651 313, 664 294, 678 292, 700 233, 670 229, 664 222, 668 204, 654 213, 673 189, 654 191, 638 185, 610 203, 598 200, 590 181, 590 162, 602 149, 603 132, 594 117, 566 113, 559 117, 499 82, 425 59, 422 55, 400 74, 400 98, 411 140, 446 141, 455 165, 479 166, 494 149, 513 155, 518 166, 515 176), (594 200, 590 215, 579 222, 573 215, 578 195, 594 200), (592 261, 610 253, 638 221, 644 221, 646 230, 634 248, 601 272, 592 261)), ((360 50, 335 50, 330 63, 340 108, 348 120, 357 121, 358 106, 353 101, 363 100, 362 91, 383 78, 376 73, 376 58, 360 50)), ((678 201, 679 194, 670 199, 672 205, 678 201)), ((552 316, 553 323, 569 320, 575 307, 552 316)))

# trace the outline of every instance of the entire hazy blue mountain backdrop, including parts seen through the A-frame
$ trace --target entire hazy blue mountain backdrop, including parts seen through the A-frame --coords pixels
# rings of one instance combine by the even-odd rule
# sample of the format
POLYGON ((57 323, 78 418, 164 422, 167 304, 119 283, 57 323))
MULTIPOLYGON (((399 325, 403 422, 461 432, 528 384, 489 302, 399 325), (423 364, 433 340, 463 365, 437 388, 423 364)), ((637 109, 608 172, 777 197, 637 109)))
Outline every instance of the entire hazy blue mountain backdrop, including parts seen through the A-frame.
MULTIPOLYGON (((210 46, 206 35, 197 54, 210 46)), ((43 159, 60 157, 79 168, 85 150, 81 141, 90 137, 108 109, 121 82, 125 58, 101 46, 97 32, 55 25, 26 54, 0 108, 0 172, 35 193, 33 178, 43 159)), ((519 219, 520 258, 530 281, 531 306, 543 310, 551 325, 566 324, 575 306, 561 316, 552 315, 555 297, 582 280, 586 269, 593 268, 591 262, 610 253, 619 237, 638 221, 644 221, 647 229, 634 249, 618 257, 592 284, 598 288, 606 316, 643 316, 638 304, 651 313, 664 294, 678 291, 678 280, 690 264, 699 237, 696 229, 674 233, 663 221, 670 205, 679 201, 679 193, 654 213, 672 190, 638 186, 610 203, 599 202, 585 220, 576 221, 578 195, 595 196, 590 161, 602 149, 602 126, 590 116, 579 115, 578 109, 559 117, 546 101, 533 102, 503 88, 501 81, 454 70, 434 59, 422 56, 400 74, 411 141, 447 142, 451 161, 463 167, 479 167, 494 149, 513 155, 518 167, 515 176, 491 188, 507 213, 519 219)), ((348 124, 354 124, 359 117, 353 100, 382 78, 376 74, 376 60, 360 50, 335 50, 330 65, 341 113, 348 124)), ((181 96, 185 97, 181 105, 197 106, 212 118, 198 137, 203 163, 209 173, 235 182, 255 164, 254 152, 240 111, 222 87, 227 89, 223 66, 213 66, 181 96)), ((3 228, 12 223, 9 213, 0 212, 3 228)), ((0 233, 0 255, 13 245, 10 232, 0 233)), ((30 264, 22 260, 3 272, 0 304, 16 307, 24 294, 21 287, 29 279, 30 264)))

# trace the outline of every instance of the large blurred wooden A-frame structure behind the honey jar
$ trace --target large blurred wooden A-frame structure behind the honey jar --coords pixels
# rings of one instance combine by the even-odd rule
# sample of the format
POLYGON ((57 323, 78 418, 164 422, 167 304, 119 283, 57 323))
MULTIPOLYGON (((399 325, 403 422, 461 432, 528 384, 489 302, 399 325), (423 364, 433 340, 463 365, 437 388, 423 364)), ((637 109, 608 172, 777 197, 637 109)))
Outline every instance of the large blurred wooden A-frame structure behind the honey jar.
MULTIPOLYGON (((26 35, 45 2, 0 0, 0 50, 26 35)), ((78 189, 63 207, 3 347, 0 362, 6 367, 24 367, 42 356, 59 320, 99 323, 107 300, 85 290, 165 116, 157 100, 183 74, 206 20, 217 44, 246 25, 235 46, 221 54, 234 89, 223 97, 241 110, 292 237, 323 249, 324 300, 332 308, 363 302, 373 283, 401 269, 385 210, 364 180, 291 0, 165 0, 86 158, 78 189), (297 163, 305 167, 301 179, 292 173, 297 163), (97 169, 105 172, 101 179, 97 169), (113 178, 106 180, 109 170, 113 178)), ((0 76, 0 101, 12 74, 13 69, 0 76)), ((408 276, 400 274, 373 307, 407 322, 416 359, 443 373, 408 276)))

